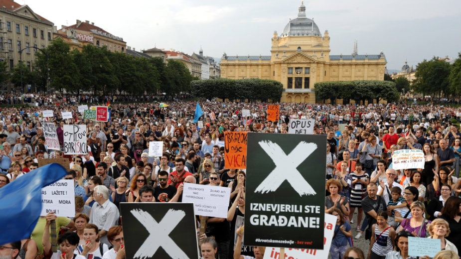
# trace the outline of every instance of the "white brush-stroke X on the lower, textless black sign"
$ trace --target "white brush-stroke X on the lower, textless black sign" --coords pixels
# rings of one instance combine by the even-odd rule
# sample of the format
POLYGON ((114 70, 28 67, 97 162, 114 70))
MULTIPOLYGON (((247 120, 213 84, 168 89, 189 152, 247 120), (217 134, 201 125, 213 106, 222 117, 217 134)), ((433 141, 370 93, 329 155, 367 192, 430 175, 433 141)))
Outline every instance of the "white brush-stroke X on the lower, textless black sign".
POLYGON ((131 210, 131 214, 143 224, 150 235, 138 249, 135 258, 152 258, 159 247, 171 258, 188 259, 186 254, 168 236, 179 221, 186 215, 184 211, 169 209, 160 223, 157 223, 148 212, 140 209, 131 210))

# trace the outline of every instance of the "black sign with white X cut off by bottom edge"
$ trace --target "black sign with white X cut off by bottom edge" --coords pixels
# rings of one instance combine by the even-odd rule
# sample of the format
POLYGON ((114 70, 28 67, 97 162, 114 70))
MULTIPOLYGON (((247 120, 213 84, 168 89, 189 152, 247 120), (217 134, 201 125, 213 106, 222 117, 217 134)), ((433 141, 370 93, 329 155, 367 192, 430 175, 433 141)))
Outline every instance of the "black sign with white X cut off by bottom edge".
POLYGON ((192 203, 120 203, 127 258, 198 257, 192 203))

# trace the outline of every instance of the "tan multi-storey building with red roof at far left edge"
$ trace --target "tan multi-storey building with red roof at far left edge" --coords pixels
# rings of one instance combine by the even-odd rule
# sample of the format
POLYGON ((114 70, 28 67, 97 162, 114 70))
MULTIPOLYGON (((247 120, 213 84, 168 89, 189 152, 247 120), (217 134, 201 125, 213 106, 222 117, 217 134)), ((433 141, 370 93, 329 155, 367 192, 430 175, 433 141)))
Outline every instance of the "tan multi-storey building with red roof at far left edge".
POLYGON ((52 40, 53 23, 28 5, 0 0, 0 60, 11 71, 19 61, 32 70, 34 48, 43 49, 52 40))

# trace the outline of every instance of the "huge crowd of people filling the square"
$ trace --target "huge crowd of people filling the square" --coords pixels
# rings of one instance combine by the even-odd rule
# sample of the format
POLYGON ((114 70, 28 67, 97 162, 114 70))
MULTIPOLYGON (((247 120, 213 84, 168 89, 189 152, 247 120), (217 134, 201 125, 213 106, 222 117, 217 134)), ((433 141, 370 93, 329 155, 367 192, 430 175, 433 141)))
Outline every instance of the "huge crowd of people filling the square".
POLYGON ((22 259, 36 254, 70 259, 74 253, 75 258, 124 258, 120 203, 181 202, 183 184, 194 183, 231 190, 227 218, 208 218, 205 232, 199 231, 201 256, 262 258, 265 248, 241 241, 246 172, 225 168, 224 132, 290 133, 290 119, 315 119, 313 134, 326 135, 325 212, 338 218, 331 258, 364 258, 361 251, 347 249, 353 238, 370 240, 370 258, 407 258, 411 236, 440 239, 441 250, 456 254, 461 248, 460 108, 281 103, 280 119, 267 121, 266 103, 207 101, 200 102, 203 115, 193 122, 195 102, 160 107, 91 97, 97 102, 89 104, 110 104, 111 110, 108 122, 95 122, 78 112, 86 98, 46 98, 39 106, 2 108, 0 187, 36 169, 41 159, 68 158, 65 179, 75 183, 76 215, 40 217, 31 239, 3 245, 7 249, 0 253, 17 250, 22 259), (43 118, 43 110, 52 110, 54 117, 43 118), (250 115, 243 117, 243 110, 250 115), (73 118, 64 120, 61 112, 72 112, 73 118), (44 122, 55 123, 61 147, 64 125, 86 125, 88 152, 70 156, 49 149, 44 122), (150 141, 163 142, 161 157, 149 156, 150 141), (424 168, 393 169, 392 154, 400 149, 423 150, 424 168), (51 220, 56 234, 64 233, 57 253, 49 249, 51 220))

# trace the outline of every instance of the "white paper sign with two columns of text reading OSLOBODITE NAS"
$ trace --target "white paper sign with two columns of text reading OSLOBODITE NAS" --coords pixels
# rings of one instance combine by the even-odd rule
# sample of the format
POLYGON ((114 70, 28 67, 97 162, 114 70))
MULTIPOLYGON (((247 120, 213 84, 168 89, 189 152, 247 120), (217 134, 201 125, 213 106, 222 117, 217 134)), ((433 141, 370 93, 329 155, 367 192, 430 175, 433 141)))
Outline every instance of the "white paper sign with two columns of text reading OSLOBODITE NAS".
POLYGON ((182 202, 192 202, 195 215, 227 218, 230 191, 227 187, 185 183, 182 202))

